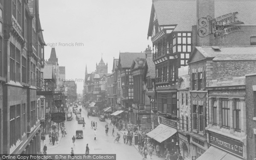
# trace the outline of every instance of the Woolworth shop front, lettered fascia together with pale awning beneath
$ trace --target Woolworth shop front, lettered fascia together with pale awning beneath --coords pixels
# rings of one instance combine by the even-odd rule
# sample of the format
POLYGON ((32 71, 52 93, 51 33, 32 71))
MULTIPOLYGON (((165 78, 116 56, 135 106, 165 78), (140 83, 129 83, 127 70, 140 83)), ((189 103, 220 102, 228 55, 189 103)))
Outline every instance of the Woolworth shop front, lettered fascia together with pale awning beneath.
POLYGON ((239 141, 209 132, 209 149, 197 160, 244 160, 245 146, 239 141))

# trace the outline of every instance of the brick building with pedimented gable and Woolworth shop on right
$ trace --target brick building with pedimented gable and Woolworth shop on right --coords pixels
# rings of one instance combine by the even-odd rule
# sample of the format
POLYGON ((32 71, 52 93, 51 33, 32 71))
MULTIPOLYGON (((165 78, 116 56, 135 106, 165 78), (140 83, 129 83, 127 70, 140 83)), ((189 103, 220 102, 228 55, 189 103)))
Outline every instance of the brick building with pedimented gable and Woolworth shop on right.
POLYGON ((192 157, 198 158, 206 151, 199 159, 203 160, 209 154, 212 154, 213 159, 218 159, 214 157, 216 152, 222 157, 247 158, 245 87, 243 78, 237 80, 236 77, 255 72, 251 67, 256 64, 255 52, 255 46, 195 47, 193 50, 188 61, 192 102, 192 132, 189 134, 192 143, 201 140, 202 143, 198 144, 207 146, 208 141, 209 149, 206 151, 207 147, 204 147, 205 150, 194 147, 196 149, 191 150, 192 157), (236 111, 238 118, 232 116, 233 111, 236 111), (236 145, 240 150, 223 148, 211 137, 236 145))

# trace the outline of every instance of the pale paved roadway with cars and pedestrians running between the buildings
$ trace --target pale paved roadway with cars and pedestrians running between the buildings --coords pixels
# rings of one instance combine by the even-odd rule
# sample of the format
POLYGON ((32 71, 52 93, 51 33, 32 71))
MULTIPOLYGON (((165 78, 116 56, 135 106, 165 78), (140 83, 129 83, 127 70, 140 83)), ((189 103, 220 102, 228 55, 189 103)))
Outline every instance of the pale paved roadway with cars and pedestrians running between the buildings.
MULTIPOLYGON (((81 108, 81 106, 79 106, 81 108)), ((114 137, 110 134, 105 135, 105 125, 107 122, 100 122, 99 117, 89 116, 87 118, 87 111, 82 109, 81 115, 85 119, 84 138, 76 140, 76 146, 74 147, 75 154, 84 154, 85 147, 88 143, 90 148, 90 154, 116 154, 117 160, 141 160, 142 156, 138 153, 134 146, 129 146, 123 143, 122 137, 119 143, 114 143, 114 137), (97 137, 94 140, 93 129, 90 128, 90 122, 97 122, 97 137)), ((73 113, 73 117, 76 115, 73 113)), ((62 137, 58 147, 50 148, 47 150, 47 154, 70 154, 71 147, 73 147, 72 137, 76 134, 76 130, 81 130, 82 124, 78 124, 76 119, 67 121, 65 123, 67 135, 62 137)), ((109 128, 112 132, 112 127, 109 128)), ((116 133, 117 130, 115 130, 116 133)), ((47 137, 48 138, 48 137, 47 137)), ((148 158, 150 159, 150 158, 148 158)))

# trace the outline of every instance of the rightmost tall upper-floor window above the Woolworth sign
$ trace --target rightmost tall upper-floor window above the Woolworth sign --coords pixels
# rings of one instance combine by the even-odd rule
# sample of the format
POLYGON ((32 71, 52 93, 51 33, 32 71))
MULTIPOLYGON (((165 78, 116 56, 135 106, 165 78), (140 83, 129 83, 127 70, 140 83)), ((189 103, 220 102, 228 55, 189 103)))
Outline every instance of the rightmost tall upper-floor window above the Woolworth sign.
POLYGON ((241 106, 239 99, 236 99, 234 104, 234 129, 235 131, 241 131, 241 106))

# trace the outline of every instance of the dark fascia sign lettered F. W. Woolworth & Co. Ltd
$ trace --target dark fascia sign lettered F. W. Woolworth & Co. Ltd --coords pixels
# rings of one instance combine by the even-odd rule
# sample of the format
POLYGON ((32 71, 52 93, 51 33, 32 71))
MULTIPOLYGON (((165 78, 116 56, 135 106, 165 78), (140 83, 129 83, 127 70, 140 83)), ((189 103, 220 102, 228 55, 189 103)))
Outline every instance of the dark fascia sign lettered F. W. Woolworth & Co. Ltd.
POLYGON ((210 144, 243 157, 243 144, 221 135, 210 133, 210 144))

